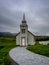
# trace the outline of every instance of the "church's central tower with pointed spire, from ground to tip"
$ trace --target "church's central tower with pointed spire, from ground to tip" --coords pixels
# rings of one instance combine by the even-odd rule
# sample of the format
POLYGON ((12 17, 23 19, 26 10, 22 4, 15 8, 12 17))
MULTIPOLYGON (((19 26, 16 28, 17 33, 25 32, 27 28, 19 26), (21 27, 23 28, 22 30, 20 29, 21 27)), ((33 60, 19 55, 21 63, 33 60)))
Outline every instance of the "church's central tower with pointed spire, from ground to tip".
POLYGON ((22 23, 20 24, 20 44, 23 45, 22 39, 25 42, 23 46, 27 46, 28 25, 25 20, 25 13, 23 13, 22 23))

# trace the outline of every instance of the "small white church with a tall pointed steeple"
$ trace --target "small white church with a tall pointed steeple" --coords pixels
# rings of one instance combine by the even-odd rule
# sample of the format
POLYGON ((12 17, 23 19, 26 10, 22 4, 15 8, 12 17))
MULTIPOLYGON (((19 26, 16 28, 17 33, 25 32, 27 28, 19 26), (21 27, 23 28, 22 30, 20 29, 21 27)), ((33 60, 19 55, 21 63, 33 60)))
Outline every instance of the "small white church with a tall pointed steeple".
POLYGON ((27 46, 34 45, 35 35, 28 31, 28 25, 23 14, 23 20, 20 24, 20 32, 16 35, 16 45, 27 46))

